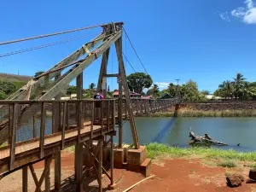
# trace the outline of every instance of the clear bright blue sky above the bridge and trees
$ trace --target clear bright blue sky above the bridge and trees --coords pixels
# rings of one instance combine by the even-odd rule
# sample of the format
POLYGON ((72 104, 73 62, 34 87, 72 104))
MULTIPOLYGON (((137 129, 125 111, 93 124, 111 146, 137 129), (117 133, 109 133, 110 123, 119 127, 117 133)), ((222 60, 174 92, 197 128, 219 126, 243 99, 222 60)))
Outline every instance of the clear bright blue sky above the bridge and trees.
MULTIPOLYGON (((193 79, 200 90, 242 73, 256 81, 256 2, 247 0, 183 1, 2 1, 0 42, 112 21, 124 21, 125 29, 154 83, 164 88, 174 79, 193 79)), ((33 75, 45 71, 96 37, 101 29, 74 32, 20 44, 0 46, 0 54, 40 44, 88 37, 67 44, 0 58, 1 73, 33 75)), ((137 72, 143 67, 124 37, 125 55, 137 72)), ((114 49, 112 49, 114 50, 114 49)), ((112 51, 109 73, 116 72, 112 51)), ((84 88, 97 82, 100 61, 84 72, 84 88)), ((125 64, 126 73, 132 69, 125 64)), ((116 88, 116 79, 108 81, 116 88)))

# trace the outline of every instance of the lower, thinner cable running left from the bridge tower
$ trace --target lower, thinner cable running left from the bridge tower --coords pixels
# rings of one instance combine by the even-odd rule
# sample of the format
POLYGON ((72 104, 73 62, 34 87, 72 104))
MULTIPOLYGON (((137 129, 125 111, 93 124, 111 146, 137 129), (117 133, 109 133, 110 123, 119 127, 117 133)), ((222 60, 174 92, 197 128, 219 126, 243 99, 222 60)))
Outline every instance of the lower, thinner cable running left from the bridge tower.
POLYGON ((25 52, 28 52, 28 51, 36 50, 36 49, 43 49, 43 48, 47 48, 47 47, 50 47, 50 46, 55 46, 56 44, 65 44, 65 43, 68 43, 68 42, 71 42, 71 41, 75 41, 75 40, 78 40, 78 39, 81 39, 81 38, 84 38, 84 37, 88 37, 88 36, 90 36, 90 35, 84 35, 84 36, 81 36, 79 38, 68 38, 66 40, 57 41, 57 42, 50 43, 50 44, 42 44, 42 45, 39 45, 39 46, 36 46, 36 47, 32 47, 32 48, 15 50, 15 51, 12 51, 12 52, 9 52, 9 53, 1 54, 0 57, 5 57, 5 56, 9 56, 9 55, 16 55, 16 54, 20 54, 20 53, 25 53, 25 52))

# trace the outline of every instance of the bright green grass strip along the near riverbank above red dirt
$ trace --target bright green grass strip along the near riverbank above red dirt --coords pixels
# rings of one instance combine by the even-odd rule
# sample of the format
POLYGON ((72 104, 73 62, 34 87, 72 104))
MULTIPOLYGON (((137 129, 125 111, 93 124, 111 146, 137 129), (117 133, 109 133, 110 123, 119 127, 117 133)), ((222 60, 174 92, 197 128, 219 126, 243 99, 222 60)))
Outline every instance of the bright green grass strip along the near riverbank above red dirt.
POLYGON ((177 157, 200 156, 201 158, 255 161, 256 152, 236 152, 235 150, 222 150, 218 148, 177 148, 160 143, 150 143, 147 145, 148 158, 156 158, 162 155, 177 157))

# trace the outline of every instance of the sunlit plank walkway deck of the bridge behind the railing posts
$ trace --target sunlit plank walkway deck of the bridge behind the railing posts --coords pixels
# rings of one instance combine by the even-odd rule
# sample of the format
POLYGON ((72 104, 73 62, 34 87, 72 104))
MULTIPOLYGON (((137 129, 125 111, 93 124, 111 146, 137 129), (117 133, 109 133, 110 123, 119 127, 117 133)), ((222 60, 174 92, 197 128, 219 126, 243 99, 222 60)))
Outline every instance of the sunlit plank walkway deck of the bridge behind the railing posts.
MULTIPOLYGON (((90 139, 90 122, 84 123, 84 128, 80 130, 81 141, 87 141, 90 139)), ((93 137, 99 137, 102 134, 106 134, 113 129, 108 130, 107 126, 93 125, 93 137)), ((65 146, 68 148, 77 143, 78 129, 68 130, 65 133, 65 146)), ((34 160, 40 158, 39 139, 32 139, 23 143, 17 143, 15 146, 15 163, 14 168, 23 166, 34 160)), ((46 136, 44 139, 44 156, 52 154, 61 149, 61 133, 55 133, 46 136)), ((1 148, 0 150, 0 173, 9 171, 9 154, 10 149, 8 147, 1 148)))

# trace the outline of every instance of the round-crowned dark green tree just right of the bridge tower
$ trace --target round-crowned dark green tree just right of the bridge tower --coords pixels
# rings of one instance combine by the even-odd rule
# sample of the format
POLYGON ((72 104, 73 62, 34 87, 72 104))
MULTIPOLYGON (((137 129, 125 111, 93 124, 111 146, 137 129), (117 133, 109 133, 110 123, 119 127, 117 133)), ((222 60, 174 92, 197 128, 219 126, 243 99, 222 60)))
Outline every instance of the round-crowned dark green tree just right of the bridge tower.
POLYGON ((153 84, 153 80, 150 75, 145 73, 131 73, 127 76, 127 83, 129 90, 141 94, 143 89, 149 88, 153 84))

